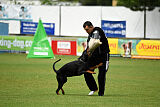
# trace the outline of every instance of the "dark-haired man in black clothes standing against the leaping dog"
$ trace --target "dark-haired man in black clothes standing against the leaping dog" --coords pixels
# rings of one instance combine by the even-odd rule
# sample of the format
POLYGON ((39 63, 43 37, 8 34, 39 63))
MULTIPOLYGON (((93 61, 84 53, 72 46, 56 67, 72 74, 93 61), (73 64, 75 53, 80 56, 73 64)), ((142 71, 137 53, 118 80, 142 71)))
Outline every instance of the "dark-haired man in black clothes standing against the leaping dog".
MULTIPOLYGON (((94 27, 90 21, 86 21, 83 24, 83 28, 89 34, 87 39, 87 49, 85 50, 89 55, 88 62, 90 66, 96 65, 98 63, 103 63, 101 67, 98 68, 98 84, 99 84, 99 96, 104 95, 105 91, 105 80, 106 80, 106 72, 109 66, 109 45, 108 40, 103 32, 103 30, 99 27, 94 27), (88 43, 91 38, 99 39, 102 44, 97 47, 93 52, 88 51, 88 43)), ((86 73, 84 74, 85 81, 91 90, 88 95, 92 95, 94 92, 98 91, 97 84, 95 82, 94 77, 92 74, 86 73)))

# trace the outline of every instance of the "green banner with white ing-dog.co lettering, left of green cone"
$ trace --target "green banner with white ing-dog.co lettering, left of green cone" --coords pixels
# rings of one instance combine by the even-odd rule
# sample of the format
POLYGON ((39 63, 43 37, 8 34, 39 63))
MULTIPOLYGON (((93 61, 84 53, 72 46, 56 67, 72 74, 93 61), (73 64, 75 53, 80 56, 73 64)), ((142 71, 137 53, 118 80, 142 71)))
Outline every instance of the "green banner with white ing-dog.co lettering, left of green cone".
POLYGON ((32 40, 29 36, 0 36, 0 50, 28 51, 32 40))

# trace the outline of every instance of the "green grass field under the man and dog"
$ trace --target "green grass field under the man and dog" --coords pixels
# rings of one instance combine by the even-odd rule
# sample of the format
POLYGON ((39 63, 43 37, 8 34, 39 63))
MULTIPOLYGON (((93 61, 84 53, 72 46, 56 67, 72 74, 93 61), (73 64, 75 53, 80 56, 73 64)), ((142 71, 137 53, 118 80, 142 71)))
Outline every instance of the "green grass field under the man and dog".
MULTIPOLYGON (((57 69, 77 59, 58 58, 57 69)), ((0 54, 0 107, 160 107, 160 60, 111 57, 105 96, 88 96, 83 75, 68 78, 66 94, 57 96, 54 61, 0 54)))

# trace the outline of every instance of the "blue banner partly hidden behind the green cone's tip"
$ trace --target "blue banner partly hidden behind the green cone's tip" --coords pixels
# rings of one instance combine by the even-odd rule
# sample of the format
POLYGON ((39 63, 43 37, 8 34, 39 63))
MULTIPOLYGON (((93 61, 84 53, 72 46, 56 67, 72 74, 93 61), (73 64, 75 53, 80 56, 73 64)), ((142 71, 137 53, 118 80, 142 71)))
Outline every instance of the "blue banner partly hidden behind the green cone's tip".
MULTIPOLYGON (((37 22, 21 22, 21 34, 35 34, 37 26, 37 22)), ((54 23, 43 23, 43 26, 46 30, 47 35, 54 35, 54 23)))

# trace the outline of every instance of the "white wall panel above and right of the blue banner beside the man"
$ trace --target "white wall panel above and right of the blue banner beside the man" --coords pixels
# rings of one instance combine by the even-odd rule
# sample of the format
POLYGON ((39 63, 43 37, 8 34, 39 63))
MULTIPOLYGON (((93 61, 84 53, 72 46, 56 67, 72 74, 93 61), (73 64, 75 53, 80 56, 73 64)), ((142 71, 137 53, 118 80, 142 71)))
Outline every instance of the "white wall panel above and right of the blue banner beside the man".
POLYGON ((127 38, 143 38, 143 12, 134 12, 125 7, 102 7, 102 19, 110 21, 126 21, 127 38))

